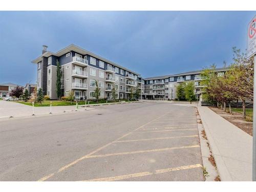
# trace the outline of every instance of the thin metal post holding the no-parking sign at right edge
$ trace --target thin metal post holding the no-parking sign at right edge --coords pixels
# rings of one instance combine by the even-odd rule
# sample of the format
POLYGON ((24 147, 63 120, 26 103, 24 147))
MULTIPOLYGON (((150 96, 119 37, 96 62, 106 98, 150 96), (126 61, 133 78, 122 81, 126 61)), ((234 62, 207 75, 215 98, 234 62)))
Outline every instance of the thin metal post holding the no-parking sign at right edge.
POLYGON ((252 141, 252 181, 256 181, 256 54, 254 55, 253 78, 253 141, 252 141))

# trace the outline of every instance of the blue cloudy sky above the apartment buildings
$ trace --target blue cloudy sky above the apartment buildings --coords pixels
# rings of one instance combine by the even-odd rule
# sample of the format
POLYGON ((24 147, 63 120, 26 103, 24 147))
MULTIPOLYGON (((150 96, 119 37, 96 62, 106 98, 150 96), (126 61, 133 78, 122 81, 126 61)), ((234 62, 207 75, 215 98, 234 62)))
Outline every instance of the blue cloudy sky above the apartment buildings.
POLYGON ((56 52, 70 44, 143 77, 175 74, 232 61, 245 51, 255 12, 76 11, 0 12, 0 82, 36 82, 42 45, 56 52))

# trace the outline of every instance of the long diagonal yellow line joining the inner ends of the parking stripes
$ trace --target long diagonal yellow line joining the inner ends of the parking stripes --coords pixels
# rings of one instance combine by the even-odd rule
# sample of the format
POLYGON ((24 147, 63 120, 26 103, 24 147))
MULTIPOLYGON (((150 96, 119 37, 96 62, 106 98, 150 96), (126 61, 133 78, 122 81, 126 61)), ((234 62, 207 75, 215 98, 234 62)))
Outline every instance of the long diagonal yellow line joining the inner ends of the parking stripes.
MULTIPOLYGON (((168 113, 163 114, 163 115, 157 117, 156 119, 161 118, 161 117, 163 117, 163 116, 165 116, 165 115, 167 115, 167 114, 168 114, 168 113)), ((127 135, 130 135, 130 134, 133 133, 134 131, 139 130, 141 127, 147 125, 148 123, 153 122, 153 121, 156 120, 156 119, 153 119, 153 120, 151 120, 151 121, 148 121, 147 123, 145 123, 145 124, 139 126, 137 129, 133 130, 132 132, 127 133, 127 134, 125 134, 125 135, 123 135, 123 136, 117 138, 117 139, 114 140, 114 141, 118 141, 119 139, 122 139, 123 137, 126 137, 127 135)), ((105 148, 105 147, 107 147, 107 146, 113 144, 114 141, 112 141, 112 142, 110 142, 110 143, 108 143, 108 144, 105 144, 105 145, 103 145, 102 147, 98 148, 97 150, 95 150, 95 151, 93 151, 93 152, 91 152, 91 153, 89 153, 89 154, 87 154, 87 155, 85 155, 85 156, 83 156, 83 157, 81 157, 81 158, 79 158, 79 159, 77 159, 77 160, 75 160, 75 161, 73 161, 73 162, 71 162, 71 163, 69 163, 69 164, 67 164, 67 165, 65 165, 65 166, 63 166, 63 167, 61 167, 61 168, 59 168, 56 173, 62 172, 63 170, 69 168, 70 166, 72 166, 72 165, 78 163, 79 161, 81 161, 81 160, 83 160, 83 159, 87 159, 87 158, 90 157, 92 154, 95 154, 95 153, 97 153, 98 151, 102 150, 103 148, 105 148)), ((47 176, 45 176, 45 177, 42 177, 42 178, 39 179, 38 181, 45 181, 45 180, 49 179, 50 177, 54 176, 56 173, 52 173, 52 174, 49 174, 49 175, 47 175, 47 176)))

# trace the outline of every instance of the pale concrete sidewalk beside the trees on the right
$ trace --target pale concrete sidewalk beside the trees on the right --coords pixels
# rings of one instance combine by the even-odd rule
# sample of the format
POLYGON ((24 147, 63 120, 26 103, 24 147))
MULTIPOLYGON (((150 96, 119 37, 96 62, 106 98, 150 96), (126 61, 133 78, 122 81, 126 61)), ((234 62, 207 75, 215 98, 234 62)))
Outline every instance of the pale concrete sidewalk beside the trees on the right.
POLYGON ((198 111, 222 181, 252 181, 252 137, 206 106, 198 111))

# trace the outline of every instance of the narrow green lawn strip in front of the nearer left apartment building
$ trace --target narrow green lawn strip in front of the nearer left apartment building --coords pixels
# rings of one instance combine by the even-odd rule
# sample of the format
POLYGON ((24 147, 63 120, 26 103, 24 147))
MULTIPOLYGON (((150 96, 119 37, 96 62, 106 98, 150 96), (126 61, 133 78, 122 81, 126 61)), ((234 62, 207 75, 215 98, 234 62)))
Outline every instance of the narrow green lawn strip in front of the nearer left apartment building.
MULTIPOLYGON (((116 102, 118 102, 119 100, 117 100, 116 102)), ((25 102, 25 101, 12 101, 12 102, 18 102, 18 103, 22 103, 22 104, 27 104, 27 105, 31 105, 32 106, 32 102, 25 102)), ((52 106, 67 106, 67 105, 75 105, 76 102, 70 102, 70 101, 58 101, 58 100, 45 100, 43 101, 41 104, 40 103, 34 103, 34 106, 50 106, 52 102, 52 106)), ((99 100, 98 102, 96 101, 90 101, 90 104, 95 104, 95 103, 105 103, 106 100, 99 100)), ((114 101, 108 101, 108 103, 111 103, 114 101)), ((86 101, 78 101, 77 102, 79 105, 80 104, 86 104, 86 101)), ((87 101, 88 104, 88 101, 87 101)))

